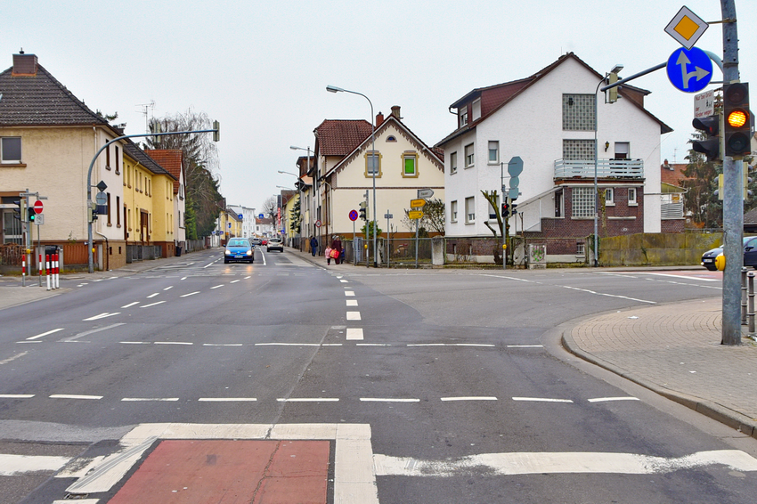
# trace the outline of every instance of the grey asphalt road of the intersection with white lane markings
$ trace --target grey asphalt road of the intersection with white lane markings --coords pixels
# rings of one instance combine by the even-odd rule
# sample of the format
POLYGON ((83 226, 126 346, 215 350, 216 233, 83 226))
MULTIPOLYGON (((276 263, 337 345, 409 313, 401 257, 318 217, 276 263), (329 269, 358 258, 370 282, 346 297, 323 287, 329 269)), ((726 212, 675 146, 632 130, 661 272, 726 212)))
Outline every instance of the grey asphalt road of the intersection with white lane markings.
MULTIPOLYGON (((61 287, 0 311, 0 453, 94 457, 145 423, 367 424, 382 503, 757 491, 753 439, 557 345, 582 316, 717 296, 707 272, 224 264, 216 249, 61 287)), ((50 474, 0 476, 5 501, 62 499, 74 478, 50 474)))

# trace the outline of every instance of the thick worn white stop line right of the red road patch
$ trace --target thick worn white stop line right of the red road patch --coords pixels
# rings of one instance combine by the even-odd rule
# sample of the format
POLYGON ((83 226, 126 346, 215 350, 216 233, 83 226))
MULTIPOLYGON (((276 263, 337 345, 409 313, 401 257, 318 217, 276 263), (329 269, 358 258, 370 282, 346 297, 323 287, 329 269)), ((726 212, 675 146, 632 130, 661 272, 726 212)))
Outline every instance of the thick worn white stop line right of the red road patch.
POLYGON ((419 460, 377 454, 373 456, 373 463, 376 476, 460 476, 467 474, 473 467, 501 476, 542 473, 653 475, 714 465, 742 472, 757 471, 757 459, 740 450, 697 451, 684 457, 672 458, 582 451, 482 453, 444 460, 419 460))

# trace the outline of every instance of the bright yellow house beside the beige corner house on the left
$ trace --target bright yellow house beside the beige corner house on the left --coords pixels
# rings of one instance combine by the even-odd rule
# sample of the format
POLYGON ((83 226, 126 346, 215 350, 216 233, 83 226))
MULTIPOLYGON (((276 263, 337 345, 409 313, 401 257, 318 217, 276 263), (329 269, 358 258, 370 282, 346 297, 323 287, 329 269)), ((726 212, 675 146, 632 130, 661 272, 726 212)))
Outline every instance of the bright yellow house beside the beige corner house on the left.
POLYGON ((119 209, 129 247, 159 246, 175 255, 175 176, 134 144, 124 146, 124 204, 119 209))

